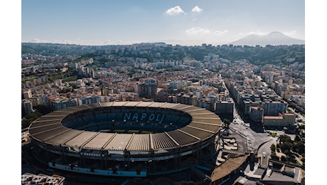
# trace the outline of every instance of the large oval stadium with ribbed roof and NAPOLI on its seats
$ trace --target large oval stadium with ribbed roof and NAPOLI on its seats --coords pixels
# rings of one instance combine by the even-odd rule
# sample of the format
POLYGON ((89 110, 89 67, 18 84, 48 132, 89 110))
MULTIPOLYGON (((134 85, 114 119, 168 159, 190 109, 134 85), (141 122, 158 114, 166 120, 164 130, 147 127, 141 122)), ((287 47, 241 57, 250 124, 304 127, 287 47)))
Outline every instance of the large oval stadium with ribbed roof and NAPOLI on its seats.
POLYGON ((51 168, 151 176, 212 157, 220 127, 218 115, 193 105, 127 101, 50 112, 35 120, 29 133, 34 156, 51 168))

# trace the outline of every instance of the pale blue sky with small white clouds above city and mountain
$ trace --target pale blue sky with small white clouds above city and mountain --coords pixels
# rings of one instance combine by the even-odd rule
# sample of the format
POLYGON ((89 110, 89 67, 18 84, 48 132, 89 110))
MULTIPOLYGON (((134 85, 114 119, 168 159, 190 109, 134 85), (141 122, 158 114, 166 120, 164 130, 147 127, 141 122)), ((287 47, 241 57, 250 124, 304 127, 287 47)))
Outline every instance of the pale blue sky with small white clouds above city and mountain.
POLYGON ((305 40, 304 0, 21 1, 21 41, 222 45, 279 31, 305 40))

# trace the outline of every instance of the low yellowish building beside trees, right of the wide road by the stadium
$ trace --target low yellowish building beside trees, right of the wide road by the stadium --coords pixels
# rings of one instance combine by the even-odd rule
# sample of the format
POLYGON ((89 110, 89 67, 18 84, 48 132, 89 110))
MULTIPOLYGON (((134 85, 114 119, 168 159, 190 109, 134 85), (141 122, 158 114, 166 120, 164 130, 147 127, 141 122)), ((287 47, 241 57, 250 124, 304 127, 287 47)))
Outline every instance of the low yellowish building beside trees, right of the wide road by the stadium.
POLYGON ((262 124, 273 126, 286 126, 295 124, 296 115, 292 113, 279 113, 279 116, 264 116, 262 117, 262 124))

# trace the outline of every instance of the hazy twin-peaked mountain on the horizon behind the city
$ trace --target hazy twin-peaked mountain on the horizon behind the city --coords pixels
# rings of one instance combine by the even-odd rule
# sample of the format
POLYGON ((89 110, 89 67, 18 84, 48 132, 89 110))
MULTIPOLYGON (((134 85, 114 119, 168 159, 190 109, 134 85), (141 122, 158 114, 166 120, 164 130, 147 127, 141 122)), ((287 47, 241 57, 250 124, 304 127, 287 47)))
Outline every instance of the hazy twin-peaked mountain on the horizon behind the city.
POLYGON ((227 44, 233 44, 233 45, 247 45, 247 46, 266 46, 268 44, 270 45, 292 45, 292 44, 304 44, 304 40, 291 38, 289 36, 285 36, 283 33, 280 33, 278 31, 274 31, 272 33, 269 33, 266 36, 259 36, 259 35, 249 35, 244 38, 240 38, 237 41, 233 41, 231 43, 227 44))

